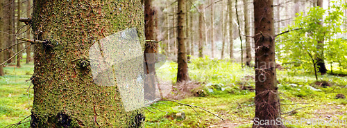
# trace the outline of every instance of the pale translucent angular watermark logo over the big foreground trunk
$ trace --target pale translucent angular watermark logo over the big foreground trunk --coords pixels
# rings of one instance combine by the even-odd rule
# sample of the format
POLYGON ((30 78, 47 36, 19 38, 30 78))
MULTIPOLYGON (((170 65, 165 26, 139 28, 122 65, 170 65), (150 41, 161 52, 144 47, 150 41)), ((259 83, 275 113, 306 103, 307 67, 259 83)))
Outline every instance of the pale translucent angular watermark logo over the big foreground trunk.
MULTIPOLYGON (((90 47, 90 66, 94 83, 99 86, 117 86, 121 94, 121 101, 126 111, 133 111, 144 107, 144 95, 154 95, 152 88, 155 79, 155 69, 147 72, 144 63, 144 46, 139 42, 136 28, 129 28, 119 33, 95 42, 90 47), (153 81, 154 80, 154 81, 153 81), (148 85, 149 82, 151 86, 148 85)), ((158 68, 164 64, 166 57, 157 53, 148 53, 146 57, 155 58, 158 68)))

